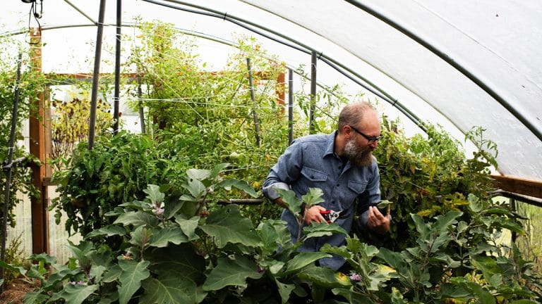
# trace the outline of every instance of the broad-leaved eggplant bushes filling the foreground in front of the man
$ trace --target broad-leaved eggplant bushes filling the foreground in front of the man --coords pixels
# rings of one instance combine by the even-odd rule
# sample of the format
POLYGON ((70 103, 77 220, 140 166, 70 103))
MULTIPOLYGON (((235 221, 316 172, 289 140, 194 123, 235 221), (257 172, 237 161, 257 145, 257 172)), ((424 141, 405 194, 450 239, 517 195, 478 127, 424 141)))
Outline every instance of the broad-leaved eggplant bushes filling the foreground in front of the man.
MULTIPOLYGON (((323 303, 330 295, 339 303, 541 299, 536 291, 542 280, 531 272, 532 263, 522 260, 514 246, 495 242, 494 231, 502 228, 496 215, 507 211, 490 201, 469 196, 469 208, 478 213, 470 223, 460 220, 459 211, 428 222, 411 215, 416 246, 404 251, 378 249, 347 237, 346 246, 299 253, 301 241, 291 243, 282 221, 265 220, 254 227, 236 205, 203 212, 205 199, 219 188, 234 186, 256 195, 246 183, 222 179, 224 167, 188 170, 174 191, 149 185, 143 201, 119 205, 105 215, 112 224, 71 244, 74 258, 68 265, 56 265, 47 255, 32 256, 37 263, 28 271, 0 264, 42 282, 25 303, 323 303), (477 234, 486 241, 465 247, 464 254, 450 254, 452 245, 469 244, 477 234), (111 248, 93 241, 110 236, 120 236, 122 245, 111 248), (315 260, 330 254, 342 255, 351 272, 315 266, 315 260)), ((299 199, 292 191, 282 191, 282 198, 303 220, 301 203, 318 203, 320 194, 313 189, 299 199)), ((313 224, 305 228, 303 239, 333 233, 345 232, 335 223, 313 224)))

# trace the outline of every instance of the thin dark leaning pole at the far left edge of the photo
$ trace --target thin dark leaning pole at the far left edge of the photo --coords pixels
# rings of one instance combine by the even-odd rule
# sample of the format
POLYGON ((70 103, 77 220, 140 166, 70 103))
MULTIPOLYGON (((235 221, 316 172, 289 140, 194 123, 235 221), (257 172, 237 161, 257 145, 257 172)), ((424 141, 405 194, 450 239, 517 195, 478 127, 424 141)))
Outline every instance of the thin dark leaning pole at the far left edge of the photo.
MULTIPOLYGON (((15 99, 13 100, 13 113, 11 115, 11 131, 9 133, 8 158, 6 169, 6 189, 4 189, 4 218, 2 219, 2 248, 0 260, 6 260, 6 239, 8 238, 8 213, 9 213, 9 192, 11 186, 11 170, 13 168, 13 150, 15 149, 15 129, 17 127, 17 112, 19 105, 20 65, 23 61, 23 53, 19 53, 17 62, 17 80, 15 85, 15 99)), ((4 278, 4 267, 0 267, 0 279, 4 278)), ((0 293, 4 292, 4 283, 0 284, 0 293)))

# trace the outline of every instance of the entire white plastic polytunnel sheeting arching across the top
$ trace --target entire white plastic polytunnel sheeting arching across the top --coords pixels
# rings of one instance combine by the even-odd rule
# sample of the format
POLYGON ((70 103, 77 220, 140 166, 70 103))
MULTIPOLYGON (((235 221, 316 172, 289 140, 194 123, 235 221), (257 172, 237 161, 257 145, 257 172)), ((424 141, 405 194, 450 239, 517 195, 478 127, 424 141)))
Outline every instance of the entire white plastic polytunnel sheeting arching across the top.
MULTIPOLYGON (((498 145, 502 174, 542 180, 542 141, 536 135, 542 129, 541 1, 154 1, 225 13, 222 20, 152 1, 122 2, 124 22, 140 15, 231 39, 232 32, 247 32, 228 22, 231 16, 248 20, 251 27, 275 31, 279 35, 271 36, 277 39, 301 42, 301 49, 314 49, 366 77, 423 121, 457 127, 460 132, 485 128, 484 137, 498 145), (412 37, 363 11, 364 6, 442 51, 502 100, 412 37)), ((114 23, 115 3, 107 1, 106 23, 114 23)), ((47 0, 42 25, 90 23, 69 4, 97 20, 100 1, 47 0), (55 13, 62 17, 52 18, 55 13)), ((289 65, 310 63, 306 53, 255 36, 264 48, 287 58, 289 65)), ((325 72, 320 70, 325 64, 319 61, 318 68, 318 80, 323 81, 325 72)), ((333 81, 337 78, 327 82, 333 81)))

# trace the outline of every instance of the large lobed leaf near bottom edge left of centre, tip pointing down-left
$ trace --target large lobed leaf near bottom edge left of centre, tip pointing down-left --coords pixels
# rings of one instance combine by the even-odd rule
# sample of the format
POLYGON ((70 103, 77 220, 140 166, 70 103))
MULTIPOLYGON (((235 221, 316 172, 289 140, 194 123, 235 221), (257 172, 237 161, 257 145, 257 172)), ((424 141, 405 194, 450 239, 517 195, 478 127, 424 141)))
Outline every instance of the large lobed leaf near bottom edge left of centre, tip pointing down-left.
POLYGON ((246 288, 246 279, 260 279, 263 272, 258 272, 258 266, 243 256, 235 260, 219 258, 209 277, 203 283, 204 291, 217 291, 225 286, 240 286, 246 288))

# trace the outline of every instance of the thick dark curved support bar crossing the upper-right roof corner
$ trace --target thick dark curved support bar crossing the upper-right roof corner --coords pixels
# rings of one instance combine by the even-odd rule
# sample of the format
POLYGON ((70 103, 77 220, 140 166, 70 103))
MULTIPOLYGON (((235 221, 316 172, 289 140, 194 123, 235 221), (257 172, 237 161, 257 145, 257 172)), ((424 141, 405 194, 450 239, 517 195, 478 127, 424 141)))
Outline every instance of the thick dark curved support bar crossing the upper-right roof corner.
POLYGON ((413 31, 407 29, 403 25, 400 25, 395 20, 392 20, 392 18, 387 17, 383 13, 380 13, 376 11, 375 9, 365 5, 361 4, 360 1, 356 0, 346 0, 349 4, 352 4, 353 6, 356 6, 357 8, 360 8, 363 11, 366 11, 367 13, 373 15, 375 18, 378 18, 379 20, 382 20, 387 25, 390 25, 391 27, 395 28, 395 30, 398 30, 399 32, 402 32, 410 39, 414 40, 415 42, 418 42, 418 44, 421 44, 421 46, 425 47, 432 53, 434 53, 436 56, 440 57, 443 61, 448 63, 449 65, 452 65, 456 70, 461 72, 463 75, 465 75, 469 80, 474 82, 478 87, 483 89, 483 91, 486 91, 487 94, 489 94, 493 99, 498 101, 501 106, 506 108, 512 115, 514 115, 517 120, 523 123, 527 129, 529 129, 536 137, 538 137, 539 140, 542 141, 542 130, 536 127, 536 124, 534 122, 531 122, 529 118, 526 118, 525 115, 522 113, 519 113, 516 108, 514 108, 504 97, 502 97, 498 92, 493 89, 489 84, 486 82, 483 82, 483 80, 480 79, 480 77, 474 75, 473 72, 471 72, 469 69, 465 68, 464 65, 459 63, 457 59, 451 58, 448 56, 444 51, 441 51, 433 44, 430 44, 430 42, 426 41, 422 37, 418 36, 418 34, 414 33, 413 31))

